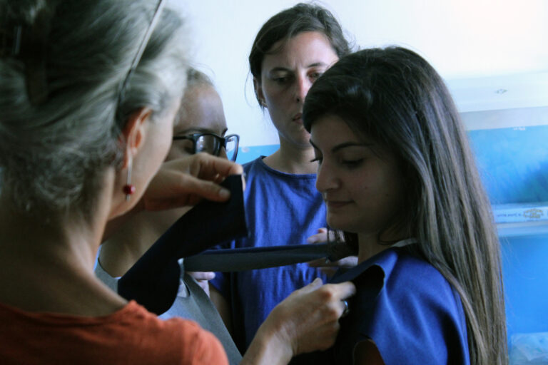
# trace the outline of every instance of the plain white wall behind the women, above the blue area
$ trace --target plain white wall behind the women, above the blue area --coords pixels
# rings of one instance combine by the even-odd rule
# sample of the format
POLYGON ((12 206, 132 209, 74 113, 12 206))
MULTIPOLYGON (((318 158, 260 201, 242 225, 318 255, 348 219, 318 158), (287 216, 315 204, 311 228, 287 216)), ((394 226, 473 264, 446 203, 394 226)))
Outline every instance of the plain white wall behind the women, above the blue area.
MULTIPOLYGON (((278 143, 268 113, 263 115, 255 101, 247 57, 260 26, 298 1, 177 1, 188 14, 195 66, 215 81, 229 131, 239 133, 244 146, 278 143)), ((539 88, 548 96, 548 0, 317 2, 338 17, 356 46, 397 44, 427 58, 450 88, 457 88, 457 105, 467 104, 462 81, 468 85, 474 78, 482 83, 526 74, 544 80, 539 88)))

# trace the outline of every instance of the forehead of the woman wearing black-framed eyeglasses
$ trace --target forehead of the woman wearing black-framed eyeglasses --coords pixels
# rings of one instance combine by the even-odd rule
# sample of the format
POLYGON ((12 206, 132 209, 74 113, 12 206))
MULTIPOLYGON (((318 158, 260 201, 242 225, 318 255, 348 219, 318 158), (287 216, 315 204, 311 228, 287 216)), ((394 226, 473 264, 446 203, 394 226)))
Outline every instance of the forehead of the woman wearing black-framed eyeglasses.
POLYGON ((210 85, 189 86, 181 103, 175 133, 189 130, 208 130, 222 134, 226 129, 223 103, 215 88, 210 85))

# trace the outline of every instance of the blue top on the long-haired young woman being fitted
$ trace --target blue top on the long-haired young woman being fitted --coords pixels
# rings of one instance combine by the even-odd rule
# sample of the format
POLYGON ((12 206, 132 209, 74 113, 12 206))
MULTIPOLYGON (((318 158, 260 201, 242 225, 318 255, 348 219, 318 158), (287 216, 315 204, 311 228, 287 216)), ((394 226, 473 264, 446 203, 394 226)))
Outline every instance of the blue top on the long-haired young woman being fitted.
POLYGON ((360 341, 372 339, 385 364, 470 364, 460 295, 408 247, 391 247, 335 275, 357 294, 331 349, 334 364, 352 364, 360 341))

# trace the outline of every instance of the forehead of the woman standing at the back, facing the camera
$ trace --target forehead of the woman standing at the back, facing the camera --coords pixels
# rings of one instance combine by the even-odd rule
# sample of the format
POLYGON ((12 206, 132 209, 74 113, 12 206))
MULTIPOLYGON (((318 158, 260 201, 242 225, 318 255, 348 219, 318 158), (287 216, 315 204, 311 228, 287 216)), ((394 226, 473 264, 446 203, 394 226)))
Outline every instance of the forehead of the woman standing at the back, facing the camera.
POLYGON ((307 31, 274 43, 270 48, 274 53, 265 55, 263 71, 273 67, 293 68, 313 63, 331 65, 338 61, 329 39, 316 31, 307 31))

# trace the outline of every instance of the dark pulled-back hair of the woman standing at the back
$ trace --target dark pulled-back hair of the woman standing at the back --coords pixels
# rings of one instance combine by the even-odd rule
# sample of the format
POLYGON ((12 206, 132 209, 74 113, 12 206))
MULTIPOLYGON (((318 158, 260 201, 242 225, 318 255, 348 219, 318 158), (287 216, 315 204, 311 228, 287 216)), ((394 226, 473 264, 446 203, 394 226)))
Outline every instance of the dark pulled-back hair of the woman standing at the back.
POLYGON ((280 47, 273 48, 275 43, 289 41, 305 31, 324 34, 339 57, 350 53, 350 44, 342 28, 328 9, 316 4, 299 3, 272 16, 255 36, 249 54, 249 68, 253 77, 260 81, 265 56, 280 51, 285 45, 282 42, 280 47))

